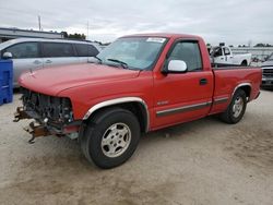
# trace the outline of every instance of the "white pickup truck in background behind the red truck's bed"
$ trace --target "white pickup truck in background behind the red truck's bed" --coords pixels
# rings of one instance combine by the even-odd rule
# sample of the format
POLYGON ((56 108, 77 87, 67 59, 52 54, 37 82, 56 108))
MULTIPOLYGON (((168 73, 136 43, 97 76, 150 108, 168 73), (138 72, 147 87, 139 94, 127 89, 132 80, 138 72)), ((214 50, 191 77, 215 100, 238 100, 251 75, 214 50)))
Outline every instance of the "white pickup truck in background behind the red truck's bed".
POLYGON ((251 62, 251 53, 234 55, 227 46, 212 47, 210 56, 213 64, 247 67, 251 62))

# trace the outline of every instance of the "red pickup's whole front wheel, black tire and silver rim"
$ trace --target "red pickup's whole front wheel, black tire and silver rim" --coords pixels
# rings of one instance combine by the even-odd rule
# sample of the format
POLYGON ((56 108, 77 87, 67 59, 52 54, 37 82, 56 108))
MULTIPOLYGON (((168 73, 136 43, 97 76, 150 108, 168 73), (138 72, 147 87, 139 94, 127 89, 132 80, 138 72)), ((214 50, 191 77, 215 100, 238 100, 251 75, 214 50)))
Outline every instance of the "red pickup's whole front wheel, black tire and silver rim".
POLYGON ((134 153, 141 131, 129 110, 110 108, 98 112, 81 134, 81 147, 88 161, 109 169, 122 165, 134 153))

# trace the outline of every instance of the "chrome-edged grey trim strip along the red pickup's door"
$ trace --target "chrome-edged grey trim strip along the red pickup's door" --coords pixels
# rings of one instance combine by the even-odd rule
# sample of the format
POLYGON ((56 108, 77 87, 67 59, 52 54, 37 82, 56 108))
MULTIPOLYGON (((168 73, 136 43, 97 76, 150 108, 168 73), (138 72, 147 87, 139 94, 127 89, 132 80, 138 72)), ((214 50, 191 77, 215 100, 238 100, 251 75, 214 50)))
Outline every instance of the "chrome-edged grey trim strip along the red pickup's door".
POLYGON ((201 108, 204 108, 204 107, 207 107, 211 105, 212 105, 212 101, 205 101, 205 102, 194 104, 194 105, 190 105, 190 106, 171 108, 171 109, 167 109, 167 110, 157 111, 156 117, 164 117, 164 116, 168 116, 168 114, 197 110, 197 109, 201 109, 201 108))

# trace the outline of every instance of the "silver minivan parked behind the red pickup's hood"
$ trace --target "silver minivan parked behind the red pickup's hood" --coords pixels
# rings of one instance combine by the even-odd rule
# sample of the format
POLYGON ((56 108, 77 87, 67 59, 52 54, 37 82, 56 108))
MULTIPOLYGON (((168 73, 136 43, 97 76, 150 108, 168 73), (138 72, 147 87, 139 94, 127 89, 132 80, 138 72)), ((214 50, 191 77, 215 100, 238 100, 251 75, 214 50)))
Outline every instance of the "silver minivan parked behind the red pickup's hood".
POLYGON ((17 38, 0 44, 0 59, 13 61, 13 86, 24 71, 86 63, 100 51, 98 44, 44 38, 17 38))

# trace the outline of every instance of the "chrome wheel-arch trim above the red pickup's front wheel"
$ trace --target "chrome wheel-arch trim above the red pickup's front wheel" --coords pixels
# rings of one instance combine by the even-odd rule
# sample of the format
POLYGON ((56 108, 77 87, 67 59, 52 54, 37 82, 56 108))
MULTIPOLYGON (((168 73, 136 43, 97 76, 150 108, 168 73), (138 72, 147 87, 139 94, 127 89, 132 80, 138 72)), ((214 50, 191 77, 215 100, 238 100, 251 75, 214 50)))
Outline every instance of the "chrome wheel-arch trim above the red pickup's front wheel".
POLYGON ((140 102, 144 107, 145 112, 146 112, 145 131, 147 132, 150 130, 150 114, 149 114, 146 102, 143 99, 141 99, 140 97, 121 97, 121 98, 110 99, 110 100, 106 100, 106 101, 102 101, 99 104, 96 104, 95 106, 93 106, 88 109, 88 111, 84 114, 83 120, 87 120, 92 113, 94 113, 96 110, 98 110, 100 108, 112 106, 112 105, 118 105, 118 104, 123 104, 123 102, 131 102, 131 101, 140 102))

